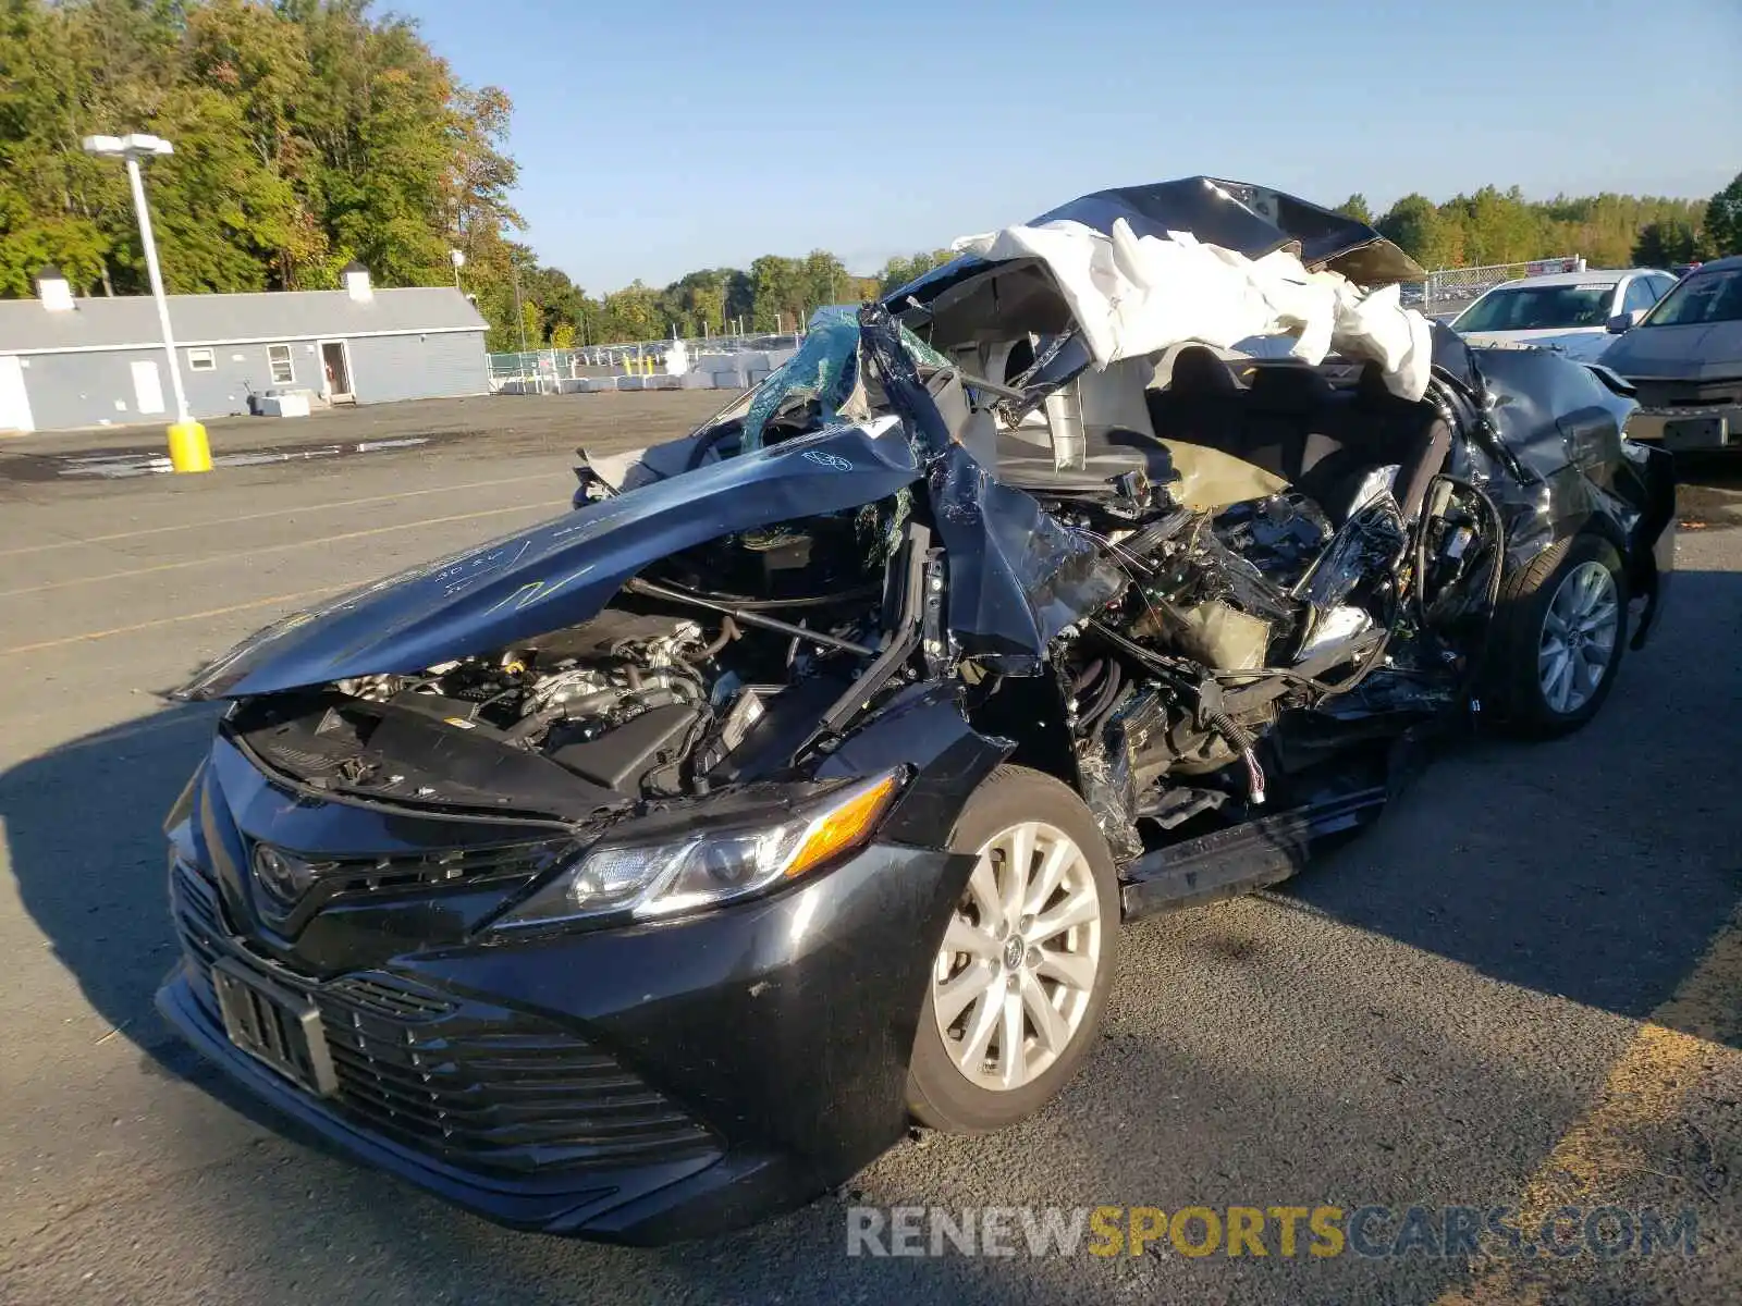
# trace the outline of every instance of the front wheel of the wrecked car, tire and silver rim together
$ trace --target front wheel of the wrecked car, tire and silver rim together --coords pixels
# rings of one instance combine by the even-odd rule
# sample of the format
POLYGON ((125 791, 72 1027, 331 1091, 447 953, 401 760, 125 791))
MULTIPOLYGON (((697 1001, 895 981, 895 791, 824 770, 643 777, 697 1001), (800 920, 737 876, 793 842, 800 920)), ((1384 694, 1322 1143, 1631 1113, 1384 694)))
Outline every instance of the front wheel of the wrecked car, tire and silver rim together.
POLYGON ((949 848, 977 862, 932 965, 908 1109, 984 1134, 1038 1111, 1092 1047, 1113 984, 1118 874, 1084 801, 1021 766, 974 791, 949 848))

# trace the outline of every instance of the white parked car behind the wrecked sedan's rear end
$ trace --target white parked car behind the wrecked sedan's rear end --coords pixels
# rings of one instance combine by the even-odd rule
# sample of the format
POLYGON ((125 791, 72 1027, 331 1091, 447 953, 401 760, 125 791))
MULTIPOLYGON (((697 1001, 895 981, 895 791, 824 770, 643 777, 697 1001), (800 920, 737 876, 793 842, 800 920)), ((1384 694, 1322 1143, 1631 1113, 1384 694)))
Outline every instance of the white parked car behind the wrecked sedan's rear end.
POLYGON ((1610 322, 1644 317, 1676 279, 1657 268, 1556 272, 1488 291, 1453 319, 1472 345, 1540 345, 1594 360, 1610 345, 1610 322))

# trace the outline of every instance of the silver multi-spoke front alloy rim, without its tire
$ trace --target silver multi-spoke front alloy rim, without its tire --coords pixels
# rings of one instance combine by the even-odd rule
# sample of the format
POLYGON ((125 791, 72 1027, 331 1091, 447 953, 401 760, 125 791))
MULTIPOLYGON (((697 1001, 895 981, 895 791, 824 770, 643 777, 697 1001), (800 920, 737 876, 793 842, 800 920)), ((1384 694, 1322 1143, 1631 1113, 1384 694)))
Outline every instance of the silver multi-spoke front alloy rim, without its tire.
POLYGON ((1101 965, 1101 897, 1082 848, 1028 820, 988 839, 944 932, 932 1008, 956 1069, 1010 1092, 1059 1059, 1101 965))

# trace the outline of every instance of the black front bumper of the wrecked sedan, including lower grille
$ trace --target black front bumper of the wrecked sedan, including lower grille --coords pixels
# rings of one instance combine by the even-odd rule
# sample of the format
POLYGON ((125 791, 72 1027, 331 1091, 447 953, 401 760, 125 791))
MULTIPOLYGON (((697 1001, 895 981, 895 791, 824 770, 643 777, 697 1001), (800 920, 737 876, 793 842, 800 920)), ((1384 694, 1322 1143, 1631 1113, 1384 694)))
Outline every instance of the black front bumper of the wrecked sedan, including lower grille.
POLYGON ((235 928, 246 907, 221 874, 176 858, 183 959, 157 1005, 261 1101, 488 1219, 625 1243, 706 1236, 815 1198, 901 1137, 927 972, 969 864, 873 845, 690 919, 319 977, 235 928), (219 961, 319 1008, 334 1092, 230 1041, 219 961))

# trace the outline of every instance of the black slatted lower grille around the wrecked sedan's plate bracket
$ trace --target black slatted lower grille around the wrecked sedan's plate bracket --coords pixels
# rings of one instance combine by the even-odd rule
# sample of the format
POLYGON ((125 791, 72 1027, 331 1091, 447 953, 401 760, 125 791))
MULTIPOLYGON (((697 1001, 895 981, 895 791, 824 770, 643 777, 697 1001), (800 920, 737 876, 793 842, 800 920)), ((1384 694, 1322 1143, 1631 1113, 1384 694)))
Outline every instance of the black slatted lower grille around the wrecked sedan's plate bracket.
MULTIPOLYGON (((223 919, 216 888, 176 864, 171 904, 195 996, 218 1020, 211 966, 267 972, 223 919)), ((556 1022, 399 975, 275 984, 314 998, 338 1080, 336 1114, 456 1167, 526 1174, 648 1165, 719 1151, 714 1135, 610 1054, 556 1022)))

